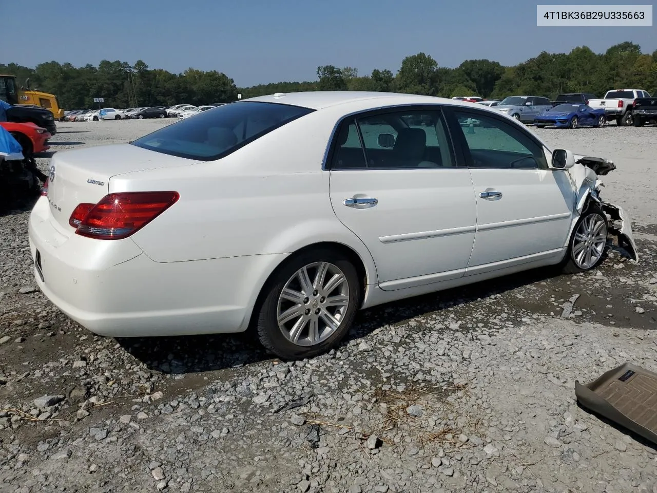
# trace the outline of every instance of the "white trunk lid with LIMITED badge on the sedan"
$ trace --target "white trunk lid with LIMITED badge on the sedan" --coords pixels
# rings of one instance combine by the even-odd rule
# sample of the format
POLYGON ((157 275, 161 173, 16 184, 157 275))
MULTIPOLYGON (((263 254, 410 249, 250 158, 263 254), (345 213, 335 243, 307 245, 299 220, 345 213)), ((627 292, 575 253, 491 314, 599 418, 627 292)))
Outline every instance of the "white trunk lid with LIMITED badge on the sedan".
POLYGON ((70 234, 75 230, 68 223, 73 210, 82 202, 95 204, 107 195, 111 177, 194 163, 194 160, 156 153, 130 144, 56 153, 47 172, 51 221, 60 231, 70 234))

